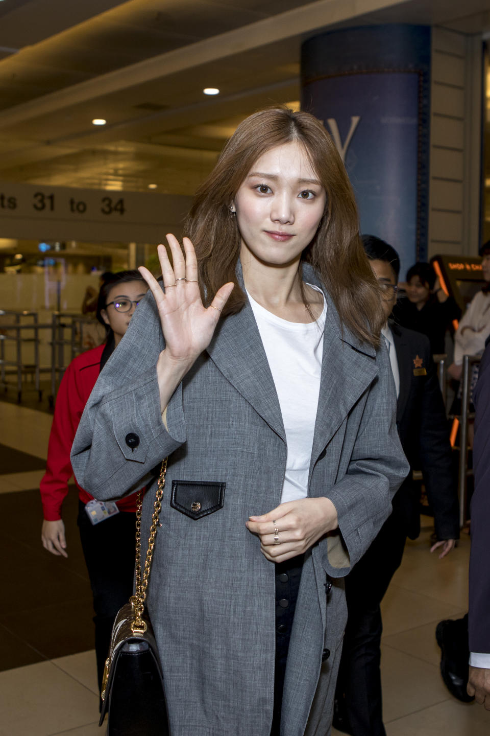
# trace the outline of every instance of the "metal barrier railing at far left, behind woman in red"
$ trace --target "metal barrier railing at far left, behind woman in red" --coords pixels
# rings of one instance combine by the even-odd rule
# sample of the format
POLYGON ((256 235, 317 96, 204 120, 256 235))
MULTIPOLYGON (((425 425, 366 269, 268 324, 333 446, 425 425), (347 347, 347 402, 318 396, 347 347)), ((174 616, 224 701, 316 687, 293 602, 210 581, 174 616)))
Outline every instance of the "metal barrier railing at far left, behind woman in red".
POLYGON ((12 311, 0 310, 0 317, 12 317, 13 324, 0 325, 0 386, 7 390, 15 386, 17 389, 17 400, 21 403, 24 387, 24 378, 26 375, 34 375, 35 389, 37 390, 39 400, 42 400, 42 390, 40 386, 41 372, 49 372, 51 375, 51 395, 49 397, 50 406, 54 406, 54 397, 57 392, 62 375, 68 363, 73 358, 82 353, 84 347, 84 325, 93 325, 93 319, 82 314, 69 312, 54 312, 51 322, 41 324, 38 321, 37 312, 29 311, 12 311), (31 323, 22 324, 21 319, 24 317, 32 318, 31 323), (67 338, 68 330, 68 338, 67 338), (26 331, 30 331, 32 335, 26 336, 26 331), (51 346, 50 365, 42 367, 40 365, 40 344, 41 333, 46 334, 45 344, 51 346), (15 344, 15 360, 6 358, 5 347, 8 343, 15 344), (33 345, 34 362, 24 361, 23 347, 26 344, 33 345), (69 360, 65 364, 65 347, 69 347, 69 360), (7 381, 8 369, 13 369, 16 376, 16 382, 7 381))

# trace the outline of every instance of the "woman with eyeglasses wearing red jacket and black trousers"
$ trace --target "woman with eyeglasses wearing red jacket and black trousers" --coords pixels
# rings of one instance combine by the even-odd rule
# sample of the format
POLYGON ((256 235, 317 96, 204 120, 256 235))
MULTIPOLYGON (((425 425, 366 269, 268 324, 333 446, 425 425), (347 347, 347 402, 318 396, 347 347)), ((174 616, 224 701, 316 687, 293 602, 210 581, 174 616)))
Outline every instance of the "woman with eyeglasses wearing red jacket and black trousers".
MULTIPOLYGON (((101 286, 97 302, 97 318, 106 329, 106 342, 77 355, 60 383, 49 436, 46 473, 40 482, 44 516, 41 539, 43 547, 54 555, 68 557, 62 503, 73 475, 70 452, 76 428, 99 372, 118 347, 137 303, 147 290, 148 286, 138 271, 111 275, 110 280, 101 286)), ((79 492, 80 539, 96 614, 100 689, 112 624, 118 609, 128 601, 132 592, 136 498, 130 495, 117 504, 106 503, 102 507, 82 486, 76 486, 79 492)))

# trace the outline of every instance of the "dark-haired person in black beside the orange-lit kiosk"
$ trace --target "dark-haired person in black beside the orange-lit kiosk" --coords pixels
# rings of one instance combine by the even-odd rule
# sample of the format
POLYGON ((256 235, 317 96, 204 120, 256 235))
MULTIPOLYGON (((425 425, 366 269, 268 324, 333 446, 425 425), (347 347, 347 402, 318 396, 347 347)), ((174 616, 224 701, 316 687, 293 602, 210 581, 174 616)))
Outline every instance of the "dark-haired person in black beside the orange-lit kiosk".
POLYGON ((446 330, 460 316, 461 309, 441 288, 430 263, 415 263, 408 269, 406 297, 398 300, 393 310, 398 325, 426 335, 432 355, 442 355, 446 352, 446 330))

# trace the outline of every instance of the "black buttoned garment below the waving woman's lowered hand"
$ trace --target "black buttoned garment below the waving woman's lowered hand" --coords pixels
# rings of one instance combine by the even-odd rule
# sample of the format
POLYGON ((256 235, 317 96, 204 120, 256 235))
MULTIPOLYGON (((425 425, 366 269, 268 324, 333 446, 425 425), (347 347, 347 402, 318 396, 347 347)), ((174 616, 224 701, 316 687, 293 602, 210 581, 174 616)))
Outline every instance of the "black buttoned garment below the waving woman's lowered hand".
POLYGON ((295 618, 296 601, 300 587, 303 555, 275 565, 275 673, 274 715, 270 736, 279 736, 281 706, 286 674, 287 652, 295 618))

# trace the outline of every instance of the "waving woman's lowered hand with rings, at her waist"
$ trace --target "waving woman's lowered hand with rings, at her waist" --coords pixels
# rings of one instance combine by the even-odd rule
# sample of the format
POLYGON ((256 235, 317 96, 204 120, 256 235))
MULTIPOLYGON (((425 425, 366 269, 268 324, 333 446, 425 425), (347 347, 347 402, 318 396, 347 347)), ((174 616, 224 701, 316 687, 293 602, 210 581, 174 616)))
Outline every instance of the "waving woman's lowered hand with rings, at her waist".
POLYGON ((260 538, 261 551, 270 562, 284 562, 305 553, 320 537, 339 526, 336 508, 329 498, 287 501, 267 514, 249 517, 245 524, 248 531, 260 538))

